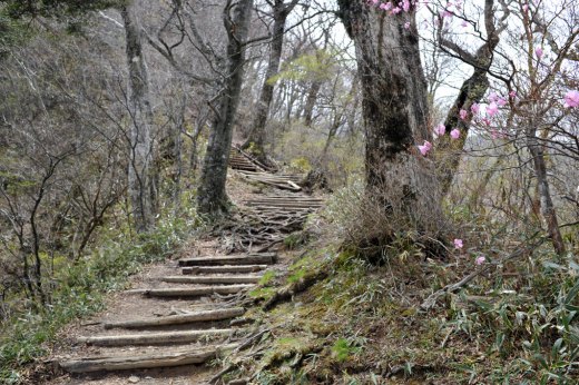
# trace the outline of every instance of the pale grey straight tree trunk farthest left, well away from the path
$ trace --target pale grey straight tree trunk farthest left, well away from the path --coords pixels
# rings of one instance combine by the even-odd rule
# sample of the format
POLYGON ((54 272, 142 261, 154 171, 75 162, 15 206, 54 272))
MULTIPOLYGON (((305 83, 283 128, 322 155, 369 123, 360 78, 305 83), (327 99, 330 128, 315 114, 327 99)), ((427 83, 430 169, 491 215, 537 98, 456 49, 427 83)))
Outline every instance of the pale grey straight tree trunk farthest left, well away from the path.
POLYGON ((129 68, 128 109, 130 113, 130 156, 128 192, 137 231, 153 227, 155 208, 155 184, 153 165, 153 109, 149 101, 149 78, 143 57, 140 27, 135 14, 134 2, 120 9, 127 39, 127 63, 129 68))

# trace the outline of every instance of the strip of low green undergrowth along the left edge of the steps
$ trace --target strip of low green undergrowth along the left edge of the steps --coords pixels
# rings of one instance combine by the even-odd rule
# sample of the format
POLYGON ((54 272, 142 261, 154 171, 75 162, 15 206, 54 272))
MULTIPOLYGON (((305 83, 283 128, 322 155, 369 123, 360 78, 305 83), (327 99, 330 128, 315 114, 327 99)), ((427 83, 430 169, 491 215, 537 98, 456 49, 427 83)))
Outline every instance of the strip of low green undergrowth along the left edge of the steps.
POLYGON ((30 309, 2 326, 0 383, 26 381, 35 371, 33 364, 50 352, 62 326, 100 310, 105 294, 122 289, 127 278, 144 265, 173 254, 189 229, 199 225, 194 220, 167 216, 143 236, 110 231, 90 256, 62 267, 53 278, 50 305, 30 309))

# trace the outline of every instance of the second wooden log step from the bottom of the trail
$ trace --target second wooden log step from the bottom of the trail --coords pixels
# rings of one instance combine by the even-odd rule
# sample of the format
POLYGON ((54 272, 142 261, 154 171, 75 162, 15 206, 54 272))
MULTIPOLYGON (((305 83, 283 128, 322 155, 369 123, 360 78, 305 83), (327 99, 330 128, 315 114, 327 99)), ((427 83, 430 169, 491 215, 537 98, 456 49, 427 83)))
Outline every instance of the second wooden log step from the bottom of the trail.
POLYGON ((114 336, 79 337, 79 343, 96 346, 125 346, 125 345, 159 345, 159 344, 187 344, 215 336, 228 336, 236 329, 207 329, 185 332, 163 332, 141 334, 120 334, 114 336))

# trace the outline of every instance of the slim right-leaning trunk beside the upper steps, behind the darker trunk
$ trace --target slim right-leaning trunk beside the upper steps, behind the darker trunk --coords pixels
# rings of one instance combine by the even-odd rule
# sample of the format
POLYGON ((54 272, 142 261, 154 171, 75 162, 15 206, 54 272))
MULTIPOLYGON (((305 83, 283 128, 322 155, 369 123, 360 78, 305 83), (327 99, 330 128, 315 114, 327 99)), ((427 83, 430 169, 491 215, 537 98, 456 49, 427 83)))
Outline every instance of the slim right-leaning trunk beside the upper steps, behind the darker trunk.
POLYGON ((284 0, 275 0, 273 7, 274 26, 272 31, 273 38, 272 47, 269 49, 269 60, 267 62, 267 70, 262 86, 262 93, 259 95, 259 101, 257 103, 257 112, 252 125, 249 137, 243 146, 244 148, 251 146, 252 152, 254 152, 261 161, 266 160, 264 149, 266 136, 265 124, 274 97, 274 82, 272 82, 272 78, 279 70, 279 60, 282 58, 282 49, 284 46, 285 21, 296 4, 297 0, 292 0, 288 4, 284 4, 284 0))

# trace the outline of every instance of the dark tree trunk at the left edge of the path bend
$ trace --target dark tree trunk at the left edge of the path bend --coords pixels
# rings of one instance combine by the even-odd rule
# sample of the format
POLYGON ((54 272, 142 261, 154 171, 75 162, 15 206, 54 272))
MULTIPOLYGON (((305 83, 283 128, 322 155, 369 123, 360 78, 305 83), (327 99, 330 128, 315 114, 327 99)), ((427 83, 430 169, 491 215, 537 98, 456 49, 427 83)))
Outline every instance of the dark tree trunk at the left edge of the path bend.
POLYGON ((232 147, 233 124, 242 90, 245 41, 252 8, 253 0, 239 0, 233 6, 228 2, 224 10, 224 23, 228 36, 227 77, 224 80, 223 96, 215 111, 199 181, 197 205, 203 214, 218 215, 228 211, 225 181, 232 147), (229 12, 233 13, 233 17, 229 12))

